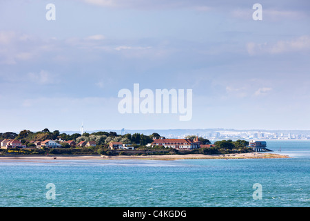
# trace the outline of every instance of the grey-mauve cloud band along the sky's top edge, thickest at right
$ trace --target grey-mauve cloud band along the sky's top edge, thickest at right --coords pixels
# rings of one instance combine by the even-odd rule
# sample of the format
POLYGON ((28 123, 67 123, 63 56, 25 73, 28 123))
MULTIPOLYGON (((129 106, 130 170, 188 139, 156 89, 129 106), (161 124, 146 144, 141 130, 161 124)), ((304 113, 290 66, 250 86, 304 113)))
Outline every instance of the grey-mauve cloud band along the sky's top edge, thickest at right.
MULTIPOLYGON (((200 12, 216 10, 239 19, 252 19, 252 6, 244 0, 205 1, 205 0, 76 0, 106 8, 125 8, 136 10, 188 9, 200 12)), ((281 21, 282 19, 309 18, 309 3, 304 0, 276 1, 261 0, 263 19, 281 21)))

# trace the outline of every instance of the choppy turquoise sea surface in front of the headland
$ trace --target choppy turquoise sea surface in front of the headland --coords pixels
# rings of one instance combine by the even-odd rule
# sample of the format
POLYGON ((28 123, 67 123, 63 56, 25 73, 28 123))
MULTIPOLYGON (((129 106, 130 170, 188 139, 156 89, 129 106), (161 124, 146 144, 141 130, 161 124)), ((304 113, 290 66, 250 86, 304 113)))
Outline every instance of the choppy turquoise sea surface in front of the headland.
POLYGON ((310 141, 267 144, 292 158, 0 160, 0 205, 309 207, 310 141), (262 200, 253 198, 256 183, 262 200))

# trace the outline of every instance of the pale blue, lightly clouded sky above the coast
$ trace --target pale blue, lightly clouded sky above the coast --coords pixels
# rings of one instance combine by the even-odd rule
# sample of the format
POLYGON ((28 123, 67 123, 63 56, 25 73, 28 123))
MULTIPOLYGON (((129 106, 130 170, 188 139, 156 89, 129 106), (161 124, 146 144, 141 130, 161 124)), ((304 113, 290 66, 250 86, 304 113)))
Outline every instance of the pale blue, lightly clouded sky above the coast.
POLYGON ((306 0, 1 0, 0 131, 310 130, 309 10, 306 0), (192 89, 192 118, 120 113, 118 92, 134 84, 192 89))

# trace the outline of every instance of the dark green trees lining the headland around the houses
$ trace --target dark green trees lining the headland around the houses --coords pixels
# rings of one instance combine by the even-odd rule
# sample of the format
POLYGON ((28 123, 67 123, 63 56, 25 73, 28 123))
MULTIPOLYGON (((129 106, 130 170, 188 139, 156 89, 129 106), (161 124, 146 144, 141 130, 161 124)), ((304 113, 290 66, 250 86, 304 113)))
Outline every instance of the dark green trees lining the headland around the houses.
MULTIPOLYGON (((161 137, 158 133, 152 133, 152 135, 143 135, 143 133, 127 133, 125 135, 118 135, 114 131, 106 132, 99 131, 94 133, 73 133, 72 135, 66 133, 60 133, 58 130, 50 131, 48 128, 42 131, 32 132, 30 130, 20 131, 19 134, 13 132, 0 133, 0 140, 13 139, 21 140, 22 144, 26 144, 28 147, 34 146, 31 141, 39 140, 74 140, 76 144, 81 141, 95 141, 96 145, 101 148, 107 148, 110 142, 122 142, 123 144, 132 144, 134 146, 140 146, 141 148, 146 148, 146 145, 153 142, 154 137, 161 137)), ((165 138, 165 137, 163 137, 165 138)), ((186 139, 194 140, 195 135, 189 135, 185 137, 186 139)), ((198 137, 201 144, 211 144, 211 142, 203 137, 198 137)), ((62 143, 67 144, 67 143, 62 143)), ((249 151, 247 146, 249 142, 245 140, 222 140, 216 141, 214 147, 203 148, 201 153, 220 153, 223 151, 249 151)), ((63 147, 70 148, 70 145, 63 145, 63 147)), ((159 147, 158 147, 159 148, 159 147)))

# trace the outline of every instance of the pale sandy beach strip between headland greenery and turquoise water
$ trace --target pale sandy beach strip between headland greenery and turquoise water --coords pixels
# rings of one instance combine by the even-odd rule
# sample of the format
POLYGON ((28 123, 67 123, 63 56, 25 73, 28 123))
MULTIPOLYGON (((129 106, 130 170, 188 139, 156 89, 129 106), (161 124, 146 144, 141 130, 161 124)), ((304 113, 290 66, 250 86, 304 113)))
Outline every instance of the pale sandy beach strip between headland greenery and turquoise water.
POLYGON ((2 155, 1 160, 193 160, 193 159, 278 159, 291 158, 288 155, 280 155, 276 153, 230 153, 230 154, 187 154, 187 155, 2 155), (56 157, 56 159, 54 159, 56 157))

